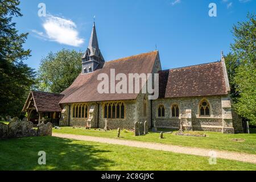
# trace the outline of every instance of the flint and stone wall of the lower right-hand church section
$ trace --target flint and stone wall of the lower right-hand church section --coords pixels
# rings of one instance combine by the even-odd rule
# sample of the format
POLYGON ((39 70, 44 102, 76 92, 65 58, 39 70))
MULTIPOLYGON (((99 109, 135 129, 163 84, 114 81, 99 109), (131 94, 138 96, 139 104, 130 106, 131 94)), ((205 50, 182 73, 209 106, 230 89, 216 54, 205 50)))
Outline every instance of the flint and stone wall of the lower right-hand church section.
POLYGON ((230 109, 224 108, 228 106, 224 105, 223 100, 224 98, 221 96, 155 100, 152 102, 152 119, 156 127, 179 129, 179 123, 182 121, 184 129, 234 133, 232 117, 231 119, 229 117, 230 109), (210 117, 200 117, 199 115, 199 103, 204 98, 210 104, 210 117), (165 108, 164 117, 158 117, 158 105, 160 104, 163 104, 165 108), (171 115, 171 106, 173 104, 179 106, 179 117, 177 118, 173 118, 171 115), (187 122, 189 119, 186 117, 186 110, 191 110, 190 125, 187 122))

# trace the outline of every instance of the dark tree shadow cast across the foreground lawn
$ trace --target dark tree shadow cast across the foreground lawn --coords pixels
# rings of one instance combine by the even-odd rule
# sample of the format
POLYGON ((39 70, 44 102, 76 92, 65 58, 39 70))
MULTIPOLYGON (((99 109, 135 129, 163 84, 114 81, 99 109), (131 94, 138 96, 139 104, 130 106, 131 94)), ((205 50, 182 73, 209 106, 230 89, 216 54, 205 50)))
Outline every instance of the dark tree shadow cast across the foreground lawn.
POLYGON ((114 162, 102 158, 97 145, 56 137, 0 140, 0 170, 108 170, 114 162), (46 152, 46 165, 38 152, 46 152))

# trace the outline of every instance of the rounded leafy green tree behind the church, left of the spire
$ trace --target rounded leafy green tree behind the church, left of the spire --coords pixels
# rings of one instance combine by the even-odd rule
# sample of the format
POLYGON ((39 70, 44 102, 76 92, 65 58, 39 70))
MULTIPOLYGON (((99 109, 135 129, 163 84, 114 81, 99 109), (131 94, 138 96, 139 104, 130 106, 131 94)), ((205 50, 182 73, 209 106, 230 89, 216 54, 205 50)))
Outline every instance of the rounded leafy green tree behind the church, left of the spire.
POLYGON ((81 52, 67 49, 48 53, 38 70, 38 89, 53 93, 67 89, 81 73, 81 56, 81 52))

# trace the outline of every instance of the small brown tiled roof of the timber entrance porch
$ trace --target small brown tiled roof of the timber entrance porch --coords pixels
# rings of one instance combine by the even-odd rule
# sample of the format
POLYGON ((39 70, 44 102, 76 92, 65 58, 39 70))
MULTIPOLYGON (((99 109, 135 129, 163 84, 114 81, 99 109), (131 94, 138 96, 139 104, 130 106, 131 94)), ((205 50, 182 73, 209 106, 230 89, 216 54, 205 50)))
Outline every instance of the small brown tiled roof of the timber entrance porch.
POLYGON ((60 112, 60 100, 64 97, 62 94, 31 91, 34 98, 35 107, 40 112, 60 112))

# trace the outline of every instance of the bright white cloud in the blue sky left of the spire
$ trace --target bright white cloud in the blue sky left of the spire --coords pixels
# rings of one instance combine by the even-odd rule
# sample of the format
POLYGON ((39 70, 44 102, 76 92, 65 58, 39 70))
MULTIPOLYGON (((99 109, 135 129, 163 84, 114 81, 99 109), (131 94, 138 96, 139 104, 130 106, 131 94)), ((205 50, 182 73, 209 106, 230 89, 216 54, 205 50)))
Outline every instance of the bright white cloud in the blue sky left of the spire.
POLYGON ((79 38, 76 24, 72 22, 72 20, 53 15, 47 15, 43 18, 43 28, 45 33, 32 30, 35 34, 42 38, 69 46, 79 47, 84 43, 84 39, 79 38))

